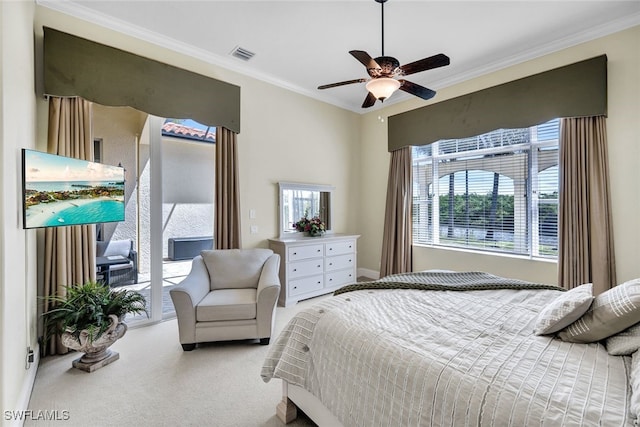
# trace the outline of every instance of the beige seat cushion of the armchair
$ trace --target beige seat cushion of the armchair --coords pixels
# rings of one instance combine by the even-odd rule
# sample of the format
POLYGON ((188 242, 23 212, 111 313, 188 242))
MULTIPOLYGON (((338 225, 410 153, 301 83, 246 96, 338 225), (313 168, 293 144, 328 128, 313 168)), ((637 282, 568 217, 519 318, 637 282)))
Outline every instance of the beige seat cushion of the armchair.
POLYGON ((256 318, 255 289, 217 289, 196 307, 196 322, 250 320, 256 318))

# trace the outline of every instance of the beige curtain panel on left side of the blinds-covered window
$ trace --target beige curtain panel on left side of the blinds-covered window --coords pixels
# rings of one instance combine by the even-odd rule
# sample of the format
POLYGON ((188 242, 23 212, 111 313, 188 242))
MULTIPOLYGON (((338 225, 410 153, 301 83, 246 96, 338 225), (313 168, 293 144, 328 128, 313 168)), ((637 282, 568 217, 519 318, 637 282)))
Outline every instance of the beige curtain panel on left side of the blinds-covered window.
POLYGON ((392 151, 387 183, 380 277, 406 273, 413 269, 411 175, 411 147, 392 151))

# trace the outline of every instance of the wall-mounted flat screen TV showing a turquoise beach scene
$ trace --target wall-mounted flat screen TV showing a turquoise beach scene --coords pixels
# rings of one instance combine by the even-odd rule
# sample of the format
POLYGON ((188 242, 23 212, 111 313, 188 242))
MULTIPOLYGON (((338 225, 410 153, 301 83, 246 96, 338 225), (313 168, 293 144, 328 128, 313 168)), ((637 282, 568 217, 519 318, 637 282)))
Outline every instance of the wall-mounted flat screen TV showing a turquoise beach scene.
POLYGON ((23 227, 124 221, 124 168, 22 150, 23 227))

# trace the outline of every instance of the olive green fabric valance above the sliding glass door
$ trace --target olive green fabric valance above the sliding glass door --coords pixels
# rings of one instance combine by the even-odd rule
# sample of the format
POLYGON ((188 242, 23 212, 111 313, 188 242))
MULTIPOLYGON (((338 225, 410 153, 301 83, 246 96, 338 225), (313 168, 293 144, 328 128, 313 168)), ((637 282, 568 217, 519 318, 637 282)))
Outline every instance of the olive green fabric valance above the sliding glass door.
POLYGON ((44 90, 240 133, 240 87, 44 28, 44 90))

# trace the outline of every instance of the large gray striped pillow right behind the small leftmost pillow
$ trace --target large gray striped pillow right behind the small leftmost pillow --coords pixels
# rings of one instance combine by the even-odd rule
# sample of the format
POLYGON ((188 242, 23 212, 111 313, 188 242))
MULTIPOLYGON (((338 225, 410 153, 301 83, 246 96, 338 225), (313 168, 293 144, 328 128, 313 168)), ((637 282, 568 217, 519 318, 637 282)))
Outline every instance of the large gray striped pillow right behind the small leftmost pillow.
POLYGON ((640 322, 640 279, 633 279, 596 296, 591 308, 558 333, 563 341, 596 342, 640 322))

